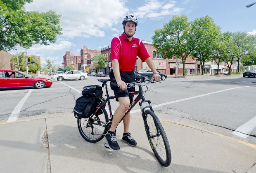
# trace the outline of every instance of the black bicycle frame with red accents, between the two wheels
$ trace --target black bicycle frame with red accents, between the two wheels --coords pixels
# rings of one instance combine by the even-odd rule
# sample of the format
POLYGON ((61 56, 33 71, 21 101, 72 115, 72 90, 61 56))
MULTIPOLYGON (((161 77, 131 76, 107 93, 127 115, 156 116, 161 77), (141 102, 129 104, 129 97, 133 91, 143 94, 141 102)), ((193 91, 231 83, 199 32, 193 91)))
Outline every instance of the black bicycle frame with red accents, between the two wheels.
MULTIPOLYGON (((104 99, 104 97, 101 97, 100 99, 102 100, 102 102, 100 103, 100 106, 97 108, 97 110, 95 111, 94 114, 97 113, 97 111, 100 110, 100 108, 104 105, 106 105, 106 103, 108 104, 109 106, 109 115, 110 115, 110 122, 112 122, 112 118, 113 118, 113 114, 112 114, 112 110, 111 110, 111 104, 110 104, 110 99, 115 99, 116 97, 115 96, 109 96, 109 92, 108 92, 108 89, 107 89, 107 82, 110 81, 110 80, 106 80, 104 82, 102 82, 102 87, 105 88, 106 90, 106 96, 107 98, 104 99)), ((133 86, 135 87, 135 86, 133 86)), ((135 97, 135 99, 133 99, 133 102, 130 104, 129 108, 126 110, 126 112, 124 113, 123 117, 121 118, 121 120, 119 121, 119 123, 123 120, 123 118, 126 117, 126 115, 129 113, 129 111, 139 102, 139 106, 140 106, 140 109, 141 109, 141 112, 142 112, 142 115, 144 115, 145 113, 145 109, 146 108, 150 108, 150 110, 153 111, 153 108, 152 108, 152 105, 151 105, 151 101, 150 100, 146 100, 145 97, 143 96, 143 92, 142 92, 142 85, 138 85, 139 87, 139 90, 135 91, 135 92, 129 92, 129 96, 130 95, 137 95, 137 97, 135 97), (142 104, 147 102, 149 104, 149 106, 145 106, 143 107, 142 104)))

